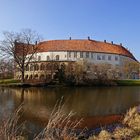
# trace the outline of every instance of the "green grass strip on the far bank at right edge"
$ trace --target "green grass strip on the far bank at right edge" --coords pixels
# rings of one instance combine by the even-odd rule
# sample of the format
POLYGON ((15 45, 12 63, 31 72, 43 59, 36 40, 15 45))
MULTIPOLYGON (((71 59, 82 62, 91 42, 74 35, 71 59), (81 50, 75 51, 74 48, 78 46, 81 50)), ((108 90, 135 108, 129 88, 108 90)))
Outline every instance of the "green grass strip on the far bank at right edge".
POLYGON ((140 80, 117 80, 119 86, 140 86, 140 80))

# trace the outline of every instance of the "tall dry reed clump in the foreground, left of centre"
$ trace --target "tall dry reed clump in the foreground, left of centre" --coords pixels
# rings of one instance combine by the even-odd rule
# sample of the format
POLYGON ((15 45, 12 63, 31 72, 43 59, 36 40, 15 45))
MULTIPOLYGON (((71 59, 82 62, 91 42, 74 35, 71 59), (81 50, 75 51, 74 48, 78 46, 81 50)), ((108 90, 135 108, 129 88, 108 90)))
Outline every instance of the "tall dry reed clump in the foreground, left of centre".
POLYGON ((77 140, 84 134, 83 131, 80 134, 75 131, 82 119, 72 121, 74 113, 64 113, 64 106, 62 100, 56 103, 47 126, 34 140, 77 140))

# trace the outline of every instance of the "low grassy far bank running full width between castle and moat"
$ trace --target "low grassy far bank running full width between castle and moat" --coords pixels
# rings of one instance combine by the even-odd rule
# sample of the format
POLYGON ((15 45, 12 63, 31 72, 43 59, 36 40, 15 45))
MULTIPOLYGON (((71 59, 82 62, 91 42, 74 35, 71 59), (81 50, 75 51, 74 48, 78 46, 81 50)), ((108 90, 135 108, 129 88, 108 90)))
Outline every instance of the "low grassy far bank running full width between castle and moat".
POLYGON ((0 86, 17 86, 17 87, 24 87, 24 86, 140 86, 140 80, 111 80, 111 81, 104 81, 104 82, 99 82, 97 81, 92 81, 89 83, 82 83, 82 84, 77 84, 77 85, 70 85, 70 84, 52 84, 52 83, 21 83, 20 80, 15 80, 15 79, 3 79, 0 80, 0 86))

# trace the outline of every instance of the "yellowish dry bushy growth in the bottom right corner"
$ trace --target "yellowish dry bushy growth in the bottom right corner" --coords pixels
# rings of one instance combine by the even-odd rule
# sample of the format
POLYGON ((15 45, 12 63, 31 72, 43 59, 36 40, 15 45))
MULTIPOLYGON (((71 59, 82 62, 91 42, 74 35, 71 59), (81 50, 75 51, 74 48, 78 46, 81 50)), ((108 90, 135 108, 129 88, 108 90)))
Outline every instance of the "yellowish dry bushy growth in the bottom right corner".
POLYGON ((122 120, 123 127, 117 127, 113 133, 102 130, 89 140, 140 140, 140 106, 130 108, 122 120))

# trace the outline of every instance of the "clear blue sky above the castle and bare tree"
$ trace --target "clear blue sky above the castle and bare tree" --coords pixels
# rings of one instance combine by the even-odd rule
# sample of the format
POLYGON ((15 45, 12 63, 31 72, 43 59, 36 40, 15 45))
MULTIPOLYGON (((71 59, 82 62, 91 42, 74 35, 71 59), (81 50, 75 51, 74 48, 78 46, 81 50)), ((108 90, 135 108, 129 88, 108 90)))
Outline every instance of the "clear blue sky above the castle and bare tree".
POLYGON ((140 0, 0 0, 2 32, 36 30, 45 40, 122 43, 140 60, 140 0))

